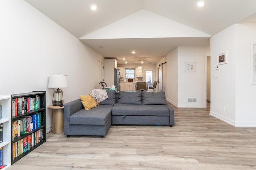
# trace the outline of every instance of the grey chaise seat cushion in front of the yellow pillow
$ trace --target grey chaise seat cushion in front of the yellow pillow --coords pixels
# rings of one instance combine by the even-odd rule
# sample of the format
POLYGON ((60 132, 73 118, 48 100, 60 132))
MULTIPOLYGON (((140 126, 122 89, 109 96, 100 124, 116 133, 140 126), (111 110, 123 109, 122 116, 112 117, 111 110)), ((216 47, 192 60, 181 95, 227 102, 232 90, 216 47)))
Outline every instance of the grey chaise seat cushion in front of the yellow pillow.
POLYGON ((70 116, 70 125, 105 125, 111 116, 112 105, 98 105, 90 110, 81 109, 70 116))

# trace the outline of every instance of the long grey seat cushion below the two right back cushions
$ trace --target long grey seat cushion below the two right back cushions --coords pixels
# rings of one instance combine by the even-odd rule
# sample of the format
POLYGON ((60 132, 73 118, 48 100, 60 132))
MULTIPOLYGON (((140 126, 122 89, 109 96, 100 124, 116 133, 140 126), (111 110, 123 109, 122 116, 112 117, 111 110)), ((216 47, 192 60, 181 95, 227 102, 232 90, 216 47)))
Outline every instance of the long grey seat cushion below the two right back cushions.
POLYGON ((117 103, 112 108, 112 116, 169 116, 165 105, 134 105, 117 103))

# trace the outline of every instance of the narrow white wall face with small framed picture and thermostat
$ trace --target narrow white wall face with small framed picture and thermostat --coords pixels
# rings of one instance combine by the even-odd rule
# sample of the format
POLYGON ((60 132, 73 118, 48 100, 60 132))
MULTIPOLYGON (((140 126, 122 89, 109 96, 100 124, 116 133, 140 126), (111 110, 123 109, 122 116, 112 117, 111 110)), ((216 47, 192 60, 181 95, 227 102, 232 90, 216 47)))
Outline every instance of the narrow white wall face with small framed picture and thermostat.
POLYGON ((232 25, 211 38, 211 111, 210 115, 235 125, 236 27, 232 25), (227 52, 228 63, 216 70, 217 55, 227 52), (213 78, 213 75, 218 78, 213 78), (223 111, 225 107, 225 111, 223 111))

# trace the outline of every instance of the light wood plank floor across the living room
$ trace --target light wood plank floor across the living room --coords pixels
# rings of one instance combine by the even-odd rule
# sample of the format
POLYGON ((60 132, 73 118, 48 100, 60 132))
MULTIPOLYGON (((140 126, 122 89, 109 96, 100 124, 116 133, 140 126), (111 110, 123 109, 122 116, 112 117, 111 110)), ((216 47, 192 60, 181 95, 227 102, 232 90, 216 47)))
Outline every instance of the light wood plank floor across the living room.
POLYGON ((233 127, 210 116, 209 104, 172 107, 173 127, 111 126, 104 138, 49 133, 46 143, 8 170, 256 169, 256 128, 233 127))

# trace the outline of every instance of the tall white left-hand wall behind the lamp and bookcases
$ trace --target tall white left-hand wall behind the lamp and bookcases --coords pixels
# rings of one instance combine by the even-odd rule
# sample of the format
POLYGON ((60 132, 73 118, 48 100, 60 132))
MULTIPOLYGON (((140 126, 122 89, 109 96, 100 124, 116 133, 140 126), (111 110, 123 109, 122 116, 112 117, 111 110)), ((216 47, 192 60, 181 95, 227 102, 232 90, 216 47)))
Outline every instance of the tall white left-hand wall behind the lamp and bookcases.
MULTIPOLYGON (((44 90, 48 106, 54 90, 48 89, 50 74, 68 75, 65 103, 98 86, 102 57, 65 29, 23 0, 1 0, 0 16, 0 94, 44 90)), ((50 131, 52 110, 46 111, 50 131)))

